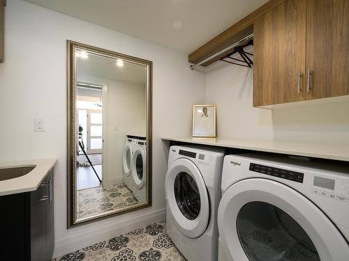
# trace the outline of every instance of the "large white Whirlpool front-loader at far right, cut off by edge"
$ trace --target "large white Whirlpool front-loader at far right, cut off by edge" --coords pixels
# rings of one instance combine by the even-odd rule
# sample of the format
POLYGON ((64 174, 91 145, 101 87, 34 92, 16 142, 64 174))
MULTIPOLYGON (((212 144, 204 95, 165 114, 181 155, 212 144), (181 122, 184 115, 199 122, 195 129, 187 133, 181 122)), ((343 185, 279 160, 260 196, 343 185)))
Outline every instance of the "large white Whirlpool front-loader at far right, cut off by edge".
POLYGON ((348 261, 349 168, 226 156, 218 208, 220 261, 348 261))

